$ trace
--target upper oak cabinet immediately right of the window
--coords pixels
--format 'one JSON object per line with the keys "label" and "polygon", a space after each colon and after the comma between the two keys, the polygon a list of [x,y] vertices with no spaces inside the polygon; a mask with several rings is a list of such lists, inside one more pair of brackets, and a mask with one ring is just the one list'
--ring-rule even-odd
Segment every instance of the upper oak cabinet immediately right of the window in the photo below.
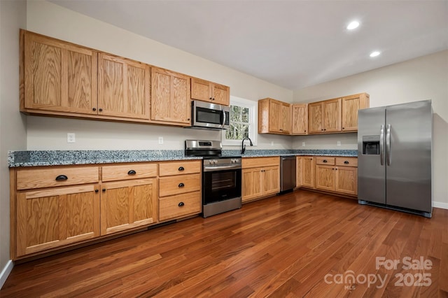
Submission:
{"label": "upper oak cabinet immediately right of the window", "polygon": [[276,99],[258,101],[258,134],[290,134],[291,105]]}

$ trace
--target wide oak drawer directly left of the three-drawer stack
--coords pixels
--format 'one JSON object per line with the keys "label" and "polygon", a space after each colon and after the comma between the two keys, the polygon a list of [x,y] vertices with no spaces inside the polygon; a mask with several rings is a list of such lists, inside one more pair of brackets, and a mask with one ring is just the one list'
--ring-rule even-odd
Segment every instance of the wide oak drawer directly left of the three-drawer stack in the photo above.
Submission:
{"label": "wide oak drawer directly left of the three-drawer stack", "polygon": [[103,166],[102,180],[116,181],[157,176],[157,164],[124,164],[120,166]]}

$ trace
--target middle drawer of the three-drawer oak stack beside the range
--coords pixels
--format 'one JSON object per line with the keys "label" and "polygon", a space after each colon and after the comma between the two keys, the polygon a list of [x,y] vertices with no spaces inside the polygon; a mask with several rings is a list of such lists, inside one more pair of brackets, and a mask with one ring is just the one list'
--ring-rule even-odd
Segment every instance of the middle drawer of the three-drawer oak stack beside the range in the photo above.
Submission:
{"label": "middle drawer of the three-drawer oak stack beside the range", "polygon": [[190,174],[159,178],[159,197],[195,192],[201,189],[201,175]]}

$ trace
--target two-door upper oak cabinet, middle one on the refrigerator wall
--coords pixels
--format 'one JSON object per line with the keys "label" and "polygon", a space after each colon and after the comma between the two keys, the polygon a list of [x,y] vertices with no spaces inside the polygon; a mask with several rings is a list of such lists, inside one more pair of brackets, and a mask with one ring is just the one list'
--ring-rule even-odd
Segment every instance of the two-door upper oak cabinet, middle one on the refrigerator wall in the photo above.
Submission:
{"label": "two-door upper oak cabinet, middle one on the refrigerator wall", "polygon": [[310,134],[341,132],[342,99],[330,99],[308,104]]}

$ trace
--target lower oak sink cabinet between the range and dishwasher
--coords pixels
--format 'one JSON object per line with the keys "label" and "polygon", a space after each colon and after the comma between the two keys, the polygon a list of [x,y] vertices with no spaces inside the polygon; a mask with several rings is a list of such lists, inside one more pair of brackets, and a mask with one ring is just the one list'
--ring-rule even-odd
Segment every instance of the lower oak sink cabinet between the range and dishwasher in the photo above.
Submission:
{"label": "lower oak sink cabinet between the range and dishwasher", "polygon": [[279,157],[244,158],[242,168],[243,203],[280,191]]}

